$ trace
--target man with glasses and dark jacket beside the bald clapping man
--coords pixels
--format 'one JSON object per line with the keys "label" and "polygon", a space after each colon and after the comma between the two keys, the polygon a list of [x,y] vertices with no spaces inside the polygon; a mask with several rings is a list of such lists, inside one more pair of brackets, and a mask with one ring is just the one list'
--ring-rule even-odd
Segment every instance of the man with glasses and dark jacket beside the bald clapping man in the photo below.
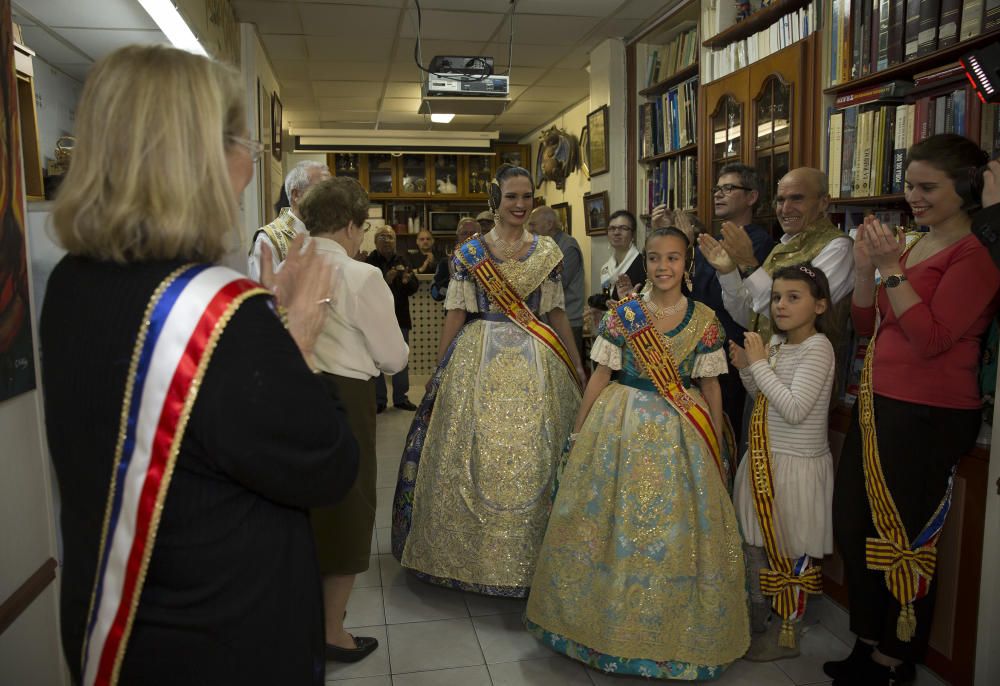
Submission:
{"label": "man with glasses and dark jacket beside the bald clapping man", "polygon": [[[715,217],[724,222],[731,222],[740,227],[742,233],[747,236],[752,245],[754,256],[761,262],[767,259],[768,254],[774,247],[774,240],[770,233],[760,224],[753,221],[753,213],[760,200],[760,177],[757,170],[745,164],[727,164],[719,170],[719,178],[712,188],[713,208]],[[680,213],[678,213],[680,214]],[[670,226],[674,219],[677,228],[685,230],[685,224],[689,222],[678,221],[672,217],[666,205],[660,205],[653,209],[653,228]],[[741,326],[726,311],[722,297],[722,285],[719,283],[715,268],[709,263],[697,247],[697,236],[688,236],[695,243],[694,273],[691,275],[691,297],[698,302],[711,307],[722,328],[726,331],[726,338],[731,341],[742,343],[746,328]],[[743,405],[746,399],[746,389],[740,381],[739,373],[736,369],[730,369],[729,374],[719,377],[719,384],[722,388],[722,405],[726,414],[733,423],[733,433],[738,445],[742,444],[743,431],[740,418],[743,416]]]}

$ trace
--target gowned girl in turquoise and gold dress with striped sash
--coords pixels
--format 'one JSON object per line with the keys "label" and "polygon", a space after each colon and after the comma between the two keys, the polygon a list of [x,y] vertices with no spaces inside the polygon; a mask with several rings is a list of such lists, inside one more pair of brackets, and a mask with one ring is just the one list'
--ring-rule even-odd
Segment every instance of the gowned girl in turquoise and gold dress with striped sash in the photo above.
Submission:
{"label": "gowned girl in turquoise and gold dress with striped sash", "polygon": [[615,674],[720,676],[749,644],[718,375],[725,334],[681,293],[690,244],[646,241],[651,288],[604,317],[525,624]]}

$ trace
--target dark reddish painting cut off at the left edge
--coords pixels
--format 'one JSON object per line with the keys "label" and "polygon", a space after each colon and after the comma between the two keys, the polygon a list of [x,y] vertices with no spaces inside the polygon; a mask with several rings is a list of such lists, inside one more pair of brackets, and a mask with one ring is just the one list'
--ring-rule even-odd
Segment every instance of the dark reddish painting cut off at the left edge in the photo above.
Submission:
{"label": "dark reddish painting cut off at the left edge", "polygon": [[35,387],[35,356],[28,299],[24,170],[17,114],[17,75],[10,0],[0,0],[0,401]]}

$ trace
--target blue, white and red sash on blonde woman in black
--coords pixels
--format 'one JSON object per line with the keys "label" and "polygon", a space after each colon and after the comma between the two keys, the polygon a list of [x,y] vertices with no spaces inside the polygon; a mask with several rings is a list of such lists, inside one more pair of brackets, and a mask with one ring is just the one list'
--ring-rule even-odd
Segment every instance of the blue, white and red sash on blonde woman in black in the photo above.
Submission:
{"label": "blue, white and red sash on blonde woman in black", "polygon": [[129,366],[94,591],[83,683],[115,684],[184,429],[219,336],[250,296],[231,269],[186,265],[153,292]]}

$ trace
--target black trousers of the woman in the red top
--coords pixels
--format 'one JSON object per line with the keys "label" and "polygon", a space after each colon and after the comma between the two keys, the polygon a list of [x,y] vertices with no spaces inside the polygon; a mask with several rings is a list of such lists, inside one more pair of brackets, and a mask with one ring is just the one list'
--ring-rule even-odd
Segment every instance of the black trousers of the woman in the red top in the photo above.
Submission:
{"label": "black trousers of the woman in the red top", "polygon": [[[875,427],[886,484],[912,542],[934,514],[948,485],[948,475],[976,442],[979,410],[954,410],[875,396]],[[865,564],[865,539],[875,537],[865,492],[858,403],[837,467],[833,489],[833,533],[844,558],[851,631],[877,640],[878,649],[899,660],[922,662],[927,652],[937,582],[913,604],[916,635],[896,637],[899,603],[885,584],[883,572]]]}

